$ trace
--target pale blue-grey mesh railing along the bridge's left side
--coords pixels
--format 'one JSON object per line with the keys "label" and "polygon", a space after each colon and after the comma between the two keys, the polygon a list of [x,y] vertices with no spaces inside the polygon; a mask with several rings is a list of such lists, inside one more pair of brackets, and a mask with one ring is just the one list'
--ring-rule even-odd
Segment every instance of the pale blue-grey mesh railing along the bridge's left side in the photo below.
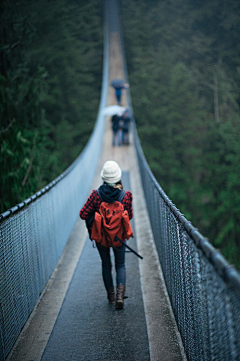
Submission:
{"label": "pale blue-grey mesh railing along the bridge's left side", "polygon": [[1,361],[6,359],[56,267],[90,190],[105,126],[101,110],[107,102],[107,38],[105,26],[99,115],[85,149],[52,183],[0,215]]}

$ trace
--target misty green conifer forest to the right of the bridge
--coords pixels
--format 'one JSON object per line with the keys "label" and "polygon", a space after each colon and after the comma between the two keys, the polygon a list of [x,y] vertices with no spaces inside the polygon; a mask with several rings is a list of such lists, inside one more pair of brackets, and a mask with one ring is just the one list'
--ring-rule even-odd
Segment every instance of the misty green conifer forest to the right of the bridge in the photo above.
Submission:
{"label": "misty green conifer forest to the right of the bridge", "polygon": [[240,2],[121,0],[121,12],[148,164],[240,268]]}

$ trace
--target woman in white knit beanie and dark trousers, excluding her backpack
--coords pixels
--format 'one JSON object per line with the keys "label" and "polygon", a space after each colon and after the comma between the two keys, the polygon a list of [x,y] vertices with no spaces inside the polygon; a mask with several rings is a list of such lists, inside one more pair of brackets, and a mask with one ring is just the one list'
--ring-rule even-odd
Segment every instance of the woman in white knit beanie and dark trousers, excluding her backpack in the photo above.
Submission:
{"label": "woman in white knit beanie and dark trousers, excluding her backpack", "polygon": [[[93,190],[88,197],[86,203],[80,211],[80,217],[86,220],[88,230],[91,238],[93,230],[93,217],[96,218],[95,212],[100,213],[101,204],[115,204],[121,206],[127,211],[128,222],[133,217],[132,209],[132,193],[123,189],[121,181],[122,171],[115,161],[107,161],[101,171],[103,184],[97,189]],[[117,201],[117,202],[116,202]],[[106,202],[106,203],[105,203]],[[101,214],[102,216],[102,214]],[[126,287],[126,267],[125,267],[125,246],[123,244],[113,246],[113,253],[115,257],[116,269],[116,295],[114,292],[113,278],[112,278],[112,263],[110,257],[111,245],[104,240],[105,243],[101,244],[96,242],[99,255],[102,260],[102,276],[104,285],[107,291],[109,303],[115,303],[116,309],[122,309],[124,306],[124,294]]]}

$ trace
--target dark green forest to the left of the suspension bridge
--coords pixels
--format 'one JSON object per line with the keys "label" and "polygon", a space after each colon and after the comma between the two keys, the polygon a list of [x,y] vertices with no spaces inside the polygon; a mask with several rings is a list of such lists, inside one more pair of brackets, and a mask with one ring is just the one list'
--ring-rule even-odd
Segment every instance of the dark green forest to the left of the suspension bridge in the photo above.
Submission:
{"label": "dark green forest to the left of the suspension bridge", "polygon": [[99,107],[103,4],[0,3],[1,213],[80,154]]}

